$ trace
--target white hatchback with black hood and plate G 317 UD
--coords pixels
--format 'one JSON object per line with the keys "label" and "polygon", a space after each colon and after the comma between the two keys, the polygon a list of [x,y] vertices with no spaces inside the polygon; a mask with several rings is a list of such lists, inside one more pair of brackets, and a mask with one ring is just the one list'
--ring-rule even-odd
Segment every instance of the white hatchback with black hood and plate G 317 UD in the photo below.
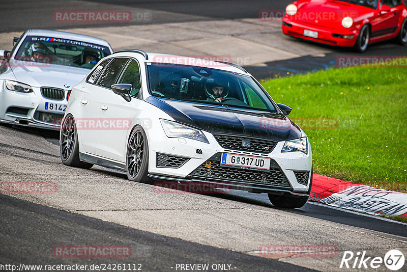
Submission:
{"label": "white hatchback with black hood and plate G 317 UD", "polygon": [[310,193],[312,155],[291,110],[237,65],[120,51],[72,88],[61,159],[150,184],[268,193],[275,206],[298,208]]}

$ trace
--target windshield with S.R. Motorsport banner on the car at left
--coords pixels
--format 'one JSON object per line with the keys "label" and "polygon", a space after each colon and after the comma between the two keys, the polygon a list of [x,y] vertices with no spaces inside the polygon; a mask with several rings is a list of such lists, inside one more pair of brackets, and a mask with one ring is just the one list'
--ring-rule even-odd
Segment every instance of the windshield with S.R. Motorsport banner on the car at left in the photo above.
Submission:
{"label": "windshield with S.R. Motorsport banner on the car at left", "polygon": [[62,38],[27,36],[14,59],[92,69],[110,55],[106,46]]}

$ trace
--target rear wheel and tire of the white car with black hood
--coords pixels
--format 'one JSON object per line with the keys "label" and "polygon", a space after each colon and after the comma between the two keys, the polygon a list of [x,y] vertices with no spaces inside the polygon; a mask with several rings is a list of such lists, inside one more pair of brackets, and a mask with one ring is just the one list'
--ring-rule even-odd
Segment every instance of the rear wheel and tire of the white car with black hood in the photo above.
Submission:
{"label": "rear wheel and tire of the white car with black hood", "polygon": [[79,159],[77,132],[75,119],[72,115],[67,115],[61,126],[60,154],[62,163],[67,166],[90,169],[93,164],[88,164],[88,162]]}

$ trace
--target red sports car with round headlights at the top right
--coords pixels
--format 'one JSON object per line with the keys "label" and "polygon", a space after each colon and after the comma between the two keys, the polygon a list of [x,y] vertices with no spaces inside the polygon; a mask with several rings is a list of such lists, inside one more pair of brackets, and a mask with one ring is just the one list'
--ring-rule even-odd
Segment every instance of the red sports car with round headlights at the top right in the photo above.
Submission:
{"label": "red sports car with round headlights at the top right", "polygon": [[369,43],[387,39],[407,43],[407,7],[401,0],[299,0],[285,9],[282,30],[363,52]]}

